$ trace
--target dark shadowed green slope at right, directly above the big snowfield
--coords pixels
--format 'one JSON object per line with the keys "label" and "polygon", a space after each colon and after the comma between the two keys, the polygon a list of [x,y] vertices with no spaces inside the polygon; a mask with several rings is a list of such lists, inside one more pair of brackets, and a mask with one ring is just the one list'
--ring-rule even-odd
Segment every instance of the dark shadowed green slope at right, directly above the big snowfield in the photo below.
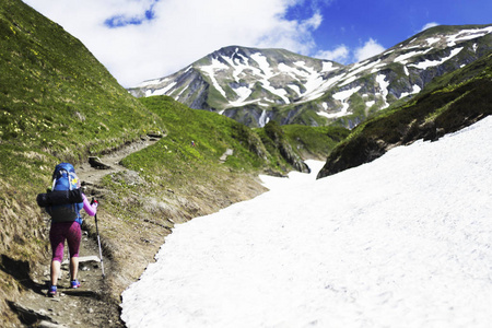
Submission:
{"label": "dark shadowed green slope at right, directly above the big snowfield", "polygon": [[435,79],[413,99],[358,126],[328,156],[318,177],[371,162],[418,139],[436,140],[492,114],[492,54]]}

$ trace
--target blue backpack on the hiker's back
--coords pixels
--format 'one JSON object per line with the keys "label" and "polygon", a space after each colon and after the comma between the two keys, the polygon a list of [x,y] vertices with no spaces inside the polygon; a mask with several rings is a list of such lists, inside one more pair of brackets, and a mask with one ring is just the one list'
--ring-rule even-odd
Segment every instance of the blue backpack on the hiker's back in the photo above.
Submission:
{"label": "blue backpack on the hiker's back", "polygon": [[[60,163],[52,173],[52,191],[75,190],[80,188],[79,178],[73,165],[70,163]],[[47,212],[51,215],[52,222],[71,222],[80,220],[80,210],[83,202],[54,204],[47,207]]]}

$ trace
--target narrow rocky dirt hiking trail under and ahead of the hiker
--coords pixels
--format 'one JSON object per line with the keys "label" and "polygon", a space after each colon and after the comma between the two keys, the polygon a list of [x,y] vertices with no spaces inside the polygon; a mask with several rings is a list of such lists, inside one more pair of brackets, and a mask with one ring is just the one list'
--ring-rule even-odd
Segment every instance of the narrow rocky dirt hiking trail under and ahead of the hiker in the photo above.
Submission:
{"label": "narrow rocky dirt hiking trail under and ahead of the hiker", "polygon": [[[87,162],[75,166],[75,172],[82,181],[84,192],[87,198],[101,195],[104,190],[98,189],[98,181],[107,174],[126,169],[119,165],[119,161],[125,156],[142,150],[153,143],[156,139],[142,139],[132,142],[110,154],[99,159],[91,159],[92,165]],[[102,168],[104,167],[104,168]],[[84,221],[94,220],[81,211]],[[50,220],[46,218],[46,236],[49,235]],[[66,245],[65,263],[62,265],[61,279],[58,280],[58,295],[56,297],[46,296],[50,271],[51,249],[46,251],[44,263],[39,272],[33,272],[30,281],[24,282],[26,291],[17,303],[11,303],[11,308],[17,313],[22,323],[27,327],[125,327],[119,318],[117,304],[108,304],[106,296],[110,288],[106,281],[112,274],[113,263],[110,258],[103,254],[104,270],[106,278],[103,278],[99,262],[98,244],[95,236],[90,237],[82,225],[82,242],[80,248],[79,280],[80,289],[70,289],[70,272],[68,269],[68,249]]]}

